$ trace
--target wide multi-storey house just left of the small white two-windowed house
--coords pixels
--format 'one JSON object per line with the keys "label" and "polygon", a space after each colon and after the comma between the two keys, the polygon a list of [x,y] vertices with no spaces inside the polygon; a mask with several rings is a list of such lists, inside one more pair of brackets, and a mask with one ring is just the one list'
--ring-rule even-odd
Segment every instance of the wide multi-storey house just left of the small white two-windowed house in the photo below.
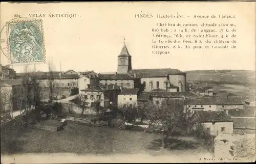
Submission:
{"label": "wide multi-storey house just left of the small white two-windowed house", "polygon": [[117,106],[118,94],[122,87],[117,85],[102,85],[94,86],[81,90],[81,95],[84,95],[88,106],[94,107],[95,103],[99,103],[102,108]]}

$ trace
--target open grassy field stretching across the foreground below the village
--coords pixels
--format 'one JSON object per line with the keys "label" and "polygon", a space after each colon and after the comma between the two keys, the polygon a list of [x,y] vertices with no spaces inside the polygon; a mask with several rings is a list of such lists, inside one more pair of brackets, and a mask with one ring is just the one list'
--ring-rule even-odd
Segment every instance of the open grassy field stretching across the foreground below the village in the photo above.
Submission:
{"label": "open grassy field stretching across the foreground below the village", "polygon": [[[44,124],[52,126],[59,123],[56,120],[47,120]],[[27,129],[16,139],[6,141],[2,145],[1,153],[155,154],[160,148],[158,134],[69,123],[59,132]],[[190,137],[172,138],[166,149],[168,153],[177,155],[207,152],[197,140]]]}

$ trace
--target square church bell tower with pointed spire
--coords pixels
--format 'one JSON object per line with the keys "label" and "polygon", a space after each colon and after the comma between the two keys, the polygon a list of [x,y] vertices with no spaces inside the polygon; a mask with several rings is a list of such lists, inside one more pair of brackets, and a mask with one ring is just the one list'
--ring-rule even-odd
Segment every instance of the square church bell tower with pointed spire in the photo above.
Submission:
{"label": "square church bell tower with pointed spire", "polygon": [[117,57],[117,73],[125,74],[132,70],[132,56],[129,54],[125,45],[125,38],[123,41],[123,48]]}

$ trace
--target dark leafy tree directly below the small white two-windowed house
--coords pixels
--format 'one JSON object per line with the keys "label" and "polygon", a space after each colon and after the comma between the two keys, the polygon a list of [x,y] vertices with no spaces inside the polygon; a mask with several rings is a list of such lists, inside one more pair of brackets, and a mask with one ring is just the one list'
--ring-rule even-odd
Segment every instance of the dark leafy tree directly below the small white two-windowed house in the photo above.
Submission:
{"label": "dark leafy tree directly below the small white two-windowed house", "polygon": [[137,115],[138,115],[138,110],[137,110],[137,104],[136,102],[134,103],[119,103],[118,104],[118,110],[119,113],[121,114],[121,119],[122,119],[122,124],[119,127],[119,129],[123,128],[125,125],[125,121],[128,123],[131,123],[132,121],[136,121]]}

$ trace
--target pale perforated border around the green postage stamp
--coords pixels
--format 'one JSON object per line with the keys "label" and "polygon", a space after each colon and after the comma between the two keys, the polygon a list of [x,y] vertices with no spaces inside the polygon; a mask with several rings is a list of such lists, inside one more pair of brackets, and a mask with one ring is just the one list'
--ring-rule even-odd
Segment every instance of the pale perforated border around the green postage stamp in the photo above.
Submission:
{"label": "pale perforated border around the green postage stamp", "polygon": [[[23,20],[25,19],[25,20]],[[27,19],[27,20],[26,20]],[[43,44],[42,44],[42,50],[44,52],[44,59],[42,62],[30,62],[30,63],[12,63],[11,61],[11,51],[10,51],[10,45],[9,45],[9,28],[8,28],[8,23],[18,23],[18,22],[30,22],[30,21],[40,21],[41,22],[41,33],[42,33],[42,41],[43,41]],[[45,34],[44,34],[44,25],[42,23],[42,19],[30,19],[30,18],[27,18],[27,17],[20,17],[20,18],[17,18],[15,20],[10,20],[10,21],[7,21],[6,22],[6,35],[7,35],[7,47],[8,47],[8,61],[9,61],[9,64],[10,65],[13,65],[13,66],[24,66],[24,65],[38,65],[38,64],[46,64],[46,48],[45,48]]]}

